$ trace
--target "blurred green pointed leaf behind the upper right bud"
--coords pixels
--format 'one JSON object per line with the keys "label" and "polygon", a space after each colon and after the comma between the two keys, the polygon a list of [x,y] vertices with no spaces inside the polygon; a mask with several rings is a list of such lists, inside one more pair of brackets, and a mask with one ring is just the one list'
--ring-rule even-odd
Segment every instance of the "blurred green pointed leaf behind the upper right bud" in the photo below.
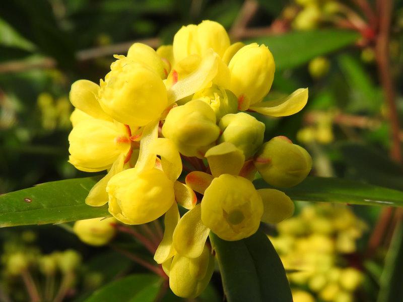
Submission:
{"label": "blurred green pointed leaf behind the upper right bud", "polygon": [[273,53],[278,71],[297,67],[317,56],[351,45],[358,38],[359,34],[353,31],[326,29],[254,38],[246,43],[267,45]]}

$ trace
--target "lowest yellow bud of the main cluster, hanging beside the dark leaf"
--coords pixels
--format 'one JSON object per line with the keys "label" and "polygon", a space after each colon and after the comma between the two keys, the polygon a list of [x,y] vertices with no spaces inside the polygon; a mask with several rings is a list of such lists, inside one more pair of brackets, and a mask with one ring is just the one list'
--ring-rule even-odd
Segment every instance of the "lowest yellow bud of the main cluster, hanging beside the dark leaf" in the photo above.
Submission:
{"label": "lowest yellow bud of the main cluster, hanging beside the dark leaf", "polygon": [[183,298],[195,298],[207,287],[214,271],[214,256],[205,246],[197,258],[176,254],[169,270],[169,287]]}

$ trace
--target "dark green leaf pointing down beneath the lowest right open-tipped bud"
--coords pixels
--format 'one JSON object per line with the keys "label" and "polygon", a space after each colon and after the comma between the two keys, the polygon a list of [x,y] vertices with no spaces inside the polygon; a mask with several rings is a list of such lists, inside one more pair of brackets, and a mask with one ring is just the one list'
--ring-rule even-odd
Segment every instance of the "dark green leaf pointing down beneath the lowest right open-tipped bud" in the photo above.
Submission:
{"label": "dark green leaf pointing down beneath the lowest right open-tipped bud", "polygon": [[262,231],[239,241],[210,233],[229,302],[292,302],[286,271]]}

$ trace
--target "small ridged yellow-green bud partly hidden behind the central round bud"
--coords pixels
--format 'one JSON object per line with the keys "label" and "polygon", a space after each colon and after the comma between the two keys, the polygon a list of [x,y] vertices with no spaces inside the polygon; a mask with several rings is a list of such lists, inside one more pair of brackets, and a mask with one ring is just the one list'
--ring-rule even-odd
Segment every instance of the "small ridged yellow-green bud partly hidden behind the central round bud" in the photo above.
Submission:
{"label": "small ridged yellow-green bud partly hidden behind the central round bud", "polygon": [[217,120],[228,113],[238,111],[236,96],[231,91],[217,85],[196,92],[193,95],[193,100],[201,100],[209,104],[216,113]]}

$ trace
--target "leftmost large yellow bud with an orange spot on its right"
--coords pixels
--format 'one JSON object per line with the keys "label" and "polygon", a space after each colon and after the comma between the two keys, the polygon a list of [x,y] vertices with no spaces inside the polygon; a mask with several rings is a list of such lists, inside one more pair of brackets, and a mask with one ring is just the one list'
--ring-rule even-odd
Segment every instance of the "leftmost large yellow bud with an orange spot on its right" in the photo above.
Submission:
{"label": "leftmost large yellow bud with an orange spot on its right", "polygon": [[69,142],[69,162],[86,172],[109,169],[119,155],[126,155],[130,149],[123,124],[95,118],[79,122],[70,132]]}

